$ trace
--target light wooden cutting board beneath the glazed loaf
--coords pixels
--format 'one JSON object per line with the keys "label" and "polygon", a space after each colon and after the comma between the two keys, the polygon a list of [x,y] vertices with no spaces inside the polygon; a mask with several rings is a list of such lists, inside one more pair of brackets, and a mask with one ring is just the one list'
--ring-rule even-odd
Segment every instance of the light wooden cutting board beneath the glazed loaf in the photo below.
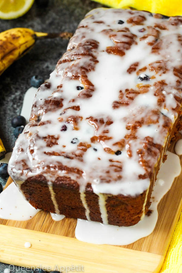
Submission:
{"label": "light wooden cutting board beneath the glazed loaf", "polygon": [[[174,144],[170,151],[174,151]],[[180,160],[182,164],[182,157]],[[11,182],[9,178],[6,186]],[[62,272],[159,272],[182,209],[181,182],[182,174],[160,201],[159,217],[152,234],[127,246],[78,241],[76,219],[55,222],[44,211],[29,221],[0,219],[0,261]],[[31,248],[24,247],[27,241],[32,244]]]}

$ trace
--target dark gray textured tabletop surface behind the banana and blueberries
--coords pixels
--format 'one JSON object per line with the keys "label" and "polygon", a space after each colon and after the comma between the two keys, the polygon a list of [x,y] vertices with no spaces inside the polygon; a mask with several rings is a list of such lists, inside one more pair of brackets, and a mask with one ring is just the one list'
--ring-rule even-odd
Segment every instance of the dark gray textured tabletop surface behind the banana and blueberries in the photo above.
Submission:
{"label": "dark gray textured tabletop surface behind the banana and blueberries", "polygon": [[[47,8],[38,8],[34,3],[30,11],[19,19],[0,19],[0,32],[15,27],[40,32],[75,32],[86,12],[100,6],[89,0],[49,0]],[[58,59],[66,51],[67,43],[59,38],[37,41],[31,51],[0,76],[0,138],[7,152],[12,151],[15,143],[11,119],[20,114],[24,93],[30,87],[30,78],[33,75],[49,78]],[[0,272],[4,269],[0,263]],[[14,268],[11,272],[20,271],[26,272],[20,268]]]}

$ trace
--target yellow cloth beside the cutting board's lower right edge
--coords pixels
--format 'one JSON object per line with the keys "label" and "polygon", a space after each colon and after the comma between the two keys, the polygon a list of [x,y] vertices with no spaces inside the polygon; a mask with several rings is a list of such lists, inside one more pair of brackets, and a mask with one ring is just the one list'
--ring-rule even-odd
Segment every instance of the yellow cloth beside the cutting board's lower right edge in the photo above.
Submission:
{"label": "yellow cloth beside the cutting board's lower right edge", "polygon": [[160,273],[182,273],[182,211]]}

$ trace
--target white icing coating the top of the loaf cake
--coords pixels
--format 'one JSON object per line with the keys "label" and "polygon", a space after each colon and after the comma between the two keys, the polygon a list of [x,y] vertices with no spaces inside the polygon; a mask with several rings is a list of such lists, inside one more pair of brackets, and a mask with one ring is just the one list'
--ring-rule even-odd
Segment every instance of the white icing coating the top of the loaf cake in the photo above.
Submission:
{"label": "white icing coating the top of the loaf cake", "polygon": [[[136,13],[136,15],[143,15],[146,17],[143,25],[146,24],[153,26],[154,24],[160,22],[160,19],[150,17],[146,12],[135,11],[134,13]],[[121,17],[121,14],[122,18],[125,18],[124,25],[118,25],[117,23]],[[157,53],[151,53],[151,46],[149,46],[147,42],[153,39],[153,37],[148,37],[147,40],[140,39],[143,35],[142,33],[138,32],[140,26],[127,23],[127,20],[129,20],[131,17],[131,11],[101,8],[89,12],[89,15],[90,16],[86,17],[80,23],[80,26],[87,25],[87,29],[92,29],[92,31],[86,31],[84,27],[78,28],[76,30],[76,34],[69,42],[68,50],[71,49],[72,52],[74,52],[74,50],[76,51],[80,40],[82,40],[83,43],[87,40],[96,41],[93,42],[95,43],[93,46],[98,46],[98,48],[93,50],[93,55],[97,60],[96,64],[93,65],[92,61],[88,62],[88,59],[85,59],[85,57],[80,60],[81,66],[94,66],[94,69],[91,69],[86,75],[94,86],[92,96],[89,99],[82,99],[81,96],[78,99],[77,97],[78,91],[83,92],[84,90],[77,90],[77,86],[83,85],[82,87],[85,87],[83,83],[80,83],[81,79],[78,80],[77,78],[73,77],[73,70],[76,67],[79,69],[78,60],[76,59],[69,63],[59,62],[56,69],[50,75],[50,84],[47,84],[46,88],[45,84],[43,84],[36,93],[31,114],[32,121],[25,127],[24,130],[24,133],[28,131],[31,132],[32,136],[30,136],[29,133],[26,133],[26,137],[24,133],[19,136],[10,160],[9,172],[15,180],[19,180],[20,173],[23,171],[21,180],[25,180],[32,175],[32,172],[34,175],[42,173],[45,170],[45,166],[50,166],[51,164],[56,166],[56,162],[59,159],[59,162],[63,165],[77,167],[79,170],[83,171],[82,175],[78,175],[73,172],[69,173],[69,177],[71,179],[79,182],[81,191],[84,191],[86,184],[91,181],[93,191],[96,194],[109,193],[135,196],[137,194],[141,194],[144,190],[147,190],[150,185],[149,178],[138,179],[138,176],[140,174],[143,175],[145,170],[141,164],[138,163],[137,150],[142,147],[146,136],[152,137],[154,143],[158,143],[164,147],[167,132],[162,126],[163,119],[165,116],[167,116],[172,123],[174,123],[176,120],[176,112],[174,109],[177,106],[177,101],[174,98],[174,94],[178,96],[181,96],[181,94],[179,90],[176,90],[175,88],[177,78],[175,78],[176,76],[174,76],[171,71],[173,71],[174,66],[178,66],[180,64],[181,59],[181,53],[175,50],[178,47],[177,35],[179,33],[179,28],[171,25],[170,21],[166,21],[165,24],[167,24],[168,31],[166,33],[165,30],[160,30],[159,37],[159,39],[162,39],[163,41],[164,49]],[[102,19],[104,23],[96,24],[94,22],[96,17]],[[128,34],[136,35],[136,37],[132,37],[134,37],[134,41],[137,42],[138,45],[140,44],[140,46],[133,42],[130,50],[126,50],[124,52],[125,55],[122,57],[114,54],[108,54],[106,52],[106,48],[113,46],[114,43],[112,39],[115,39],[110,39],[110,35],[105,34],[104,29],[106,29],[108,25],[110,25],[108,30],[109,32],[110,29],[115,29],[117,31],[127,26],[130,30]],[[117,32],[116,35],[119,35],[118,33],[119,32]],[[116,38],[119,39],[120,42],[122,42],[122,39],[124,39],[122,35]],[[73,45],[75,49],[72,49]],[[67,56],[69,56],[69,51],[64,54],[62,60],[67,58]],[[160,74],[156,73],[155,69],[150,69],[148,64],[156,63],[161,59],[165,61],[167,70],[166,73]],[[150,76],[150,88],[148,89],[147,93],[140,93],[137,95],[135,99],[130,101],[128,106],[113,109],[112,103],[118,100],[119,91],[121,89],[136,89],[136,86],[139,84],[138,75],[136,75],[136,72],[129,74],[126,71],[126,68],[130,67],[133,62],[139,63],[137,69],[147,66],[147,70],[144,73]],[[123,77],[121,78],[120,75],[123,75]],[[165,86],[165,90],[163,91],[163,96],[165,96],[166,103],[165,107],[164,104],[158,106],[158,97],[154,96],[154,93],[157,90],[155,87],[155,82],[162,80],[167,83],[167,86]],[[144,84],[143,82],[144,81],[142,81],[140,84]],[[58,86],[60,87],[58,88]],[[63,106],[55,111],[45,111],[45,101],[48,98],[63,99]],[[67,130],[60,132],[60,128],[65,125],[68,117],[76,114],[74,109],[69,108],[74,104],[73,102],[70,102],[70,98],[75,99],[76,105],[80,108],[78,111],[79,116],[82,116],[83,119],[78,122],[79,130],[73,130],[73,123],[68,123],[66,125]],[[92,107],[90,107],[90,105],[92,105]],[[66,110],[63,111],[64,109]],[[121,155],[116,156],[115,153],[107,153],[104,150],[114,149],[115,152],[113,143],[117,142],[121,138],[123,139],[127,133],[130,133],[130,130],[126,129],[127,121],[124,121],[127,117],[135,116],[136,114],[138,118],[147,116],[147,113],[153,109],[158,109],[161,113],[159,116],[159,122],[152,123],[150,126],[144,124],[138,128],[136,130],[137,138],[126,141],[126,145],[122,149]],[[60,116],[61,113],[63,114]],[[46,122],[47,120],[50,120],[50,123],[41,125],[41,127],[31,126],[31,124],[36,120],[35,116],[38,116],[42,123]],[[104,122],[106,122],[106,118],[113,121],[113,123],[111,123],[109,126],[106,126],[106,129],[108,128],[109,130],[109,136],[112,136],[113,139],[95,142],[94,147],[97,149],[97,152],[93,151],[93,144],[90,143],[90,138],[101,134],[103,127],[101,126],[100,129],[98,128],[98,130],[96,130],[96,128],[93,126],[93,121],[88,120],[90,116],[93,116],[94,118],[102,117]],[[60,120],[60,118],[62,120]],[[128,122],[130,122],[130,120],[128,120]],[[39,139],[37,139],[37,134],[39,135]],[[56,151],[60,151],[61,153],[66,153],[69,155],[74,153],[78,155],[81,149],[78,149],[77,145],[80,143],[89,143],[91,147],[87,148],[86,152],[83,153],[83,161],[77,160],[77,157],[72,160],[62,155],[55,156],[53,155],[55,151],[54,145],[52,147],[47,147],[45,145],[45,141],[41,140],[41,138],[44,138],[50,134],[53,134],[59,138]],[[73,145],[71,143],[73,138],[78,139],[78,144],[76,143]],[[17,153],[20,143],[22,148],[24,148],[23,150],[26,150],[25,147],[28,147],[31,141],[33,141],[34,153],[30,154],[28,152],[27,155],[21,152]],[[65,144],[64,149],[62,148],[62,144]],[[131,147],[132,157],[128,157],[129,146]],[[116,147],[116,150],[118,150],[118,147]],[[44,152],[53,154],[45,155]],[[150,166],[154,166],[158,160],[159,151],[156,150],[156,152],[157,156],[150,158]],[[100,158],[100,160],[98,158]],[[21,170],[19,162],[22,159],[25,159],[29,167],[28,171]],[[41,165],[42,160],[45,161],[45,164]],[[112,167],[110,167],[110,160],[118,160],[121,162],[117,163],[117,168],[121,168],[120,165],[122,164],[122,178],[117,178],[117,173],[115,173]],[[39,168],[37,168],[37,166],[39,166]],[[106,175],[105,171],[107,169],[110,169],[110,174]],[[128,169],[132,169],[132,172],[128,172]],[[65,175],[65,171],[56,171],[58,176]],[[51,173],[51,179],[52,182],[55,179],[53,173]],[[115,180],[119,183],[105,183],[105,180],[107,180],[106,182],[108,182],[108,180]]]}

